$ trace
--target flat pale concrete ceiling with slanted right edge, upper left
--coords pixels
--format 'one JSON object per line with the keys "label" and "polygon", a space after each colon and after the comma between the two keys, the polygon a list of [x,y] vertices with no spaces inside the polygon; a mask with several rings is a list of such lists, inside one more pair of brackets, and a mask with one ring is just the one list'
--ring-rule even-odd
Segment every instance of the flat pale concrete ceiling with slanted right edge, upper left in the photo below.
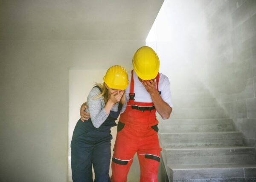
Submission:
{"label": "flat pale concrete ceiling with slanted right edge, upper left", "polygon": [[0,40],[145,40],[163,0],[1,0]]}

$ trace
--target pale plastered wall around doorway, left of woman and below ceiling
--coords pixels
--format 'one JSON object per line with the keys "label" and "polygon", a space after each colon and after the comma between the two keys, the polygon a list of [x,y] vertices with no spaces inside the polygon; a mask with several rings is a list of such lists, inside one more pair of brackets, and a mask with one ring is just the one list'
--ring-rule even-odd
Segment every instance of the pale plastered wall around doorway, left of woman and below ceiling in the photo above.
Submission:
{"label": "pale plastered wall around doorway, left of woman and below ceiling", "polygon": [[1,41],[0,179],[67,181],[69,68],[131,69],[134,52],[144,44]]}

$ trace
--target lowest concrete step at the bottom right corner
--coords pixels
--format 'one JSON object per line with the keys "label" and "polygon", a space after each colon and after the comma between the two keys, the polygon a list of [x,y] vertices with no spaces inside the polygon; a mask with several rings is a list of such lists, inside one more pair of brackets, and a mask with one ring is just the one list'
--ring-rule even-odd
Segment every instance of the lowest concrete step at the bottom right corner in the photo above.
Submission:
{"label": "lowest concrete step at the bottom right corner", "polygon": [[255,182],[256,165],[168,165],[173,182]]}

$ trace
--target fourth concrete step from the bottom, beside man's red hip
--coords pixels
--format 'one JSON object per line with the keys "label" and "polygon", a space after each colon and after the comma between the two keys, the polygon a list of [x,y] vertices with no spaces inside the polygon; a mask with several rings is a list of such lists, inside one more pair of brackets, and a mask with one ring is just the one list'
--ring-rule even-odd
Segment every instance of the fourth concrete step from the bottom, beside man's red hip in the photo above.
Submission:
{"label": "fourth concrete step from the bottom, beside man's red hip", "polygon": [[160,133],[233,131],[232,119],[169,119],[159,121]]}

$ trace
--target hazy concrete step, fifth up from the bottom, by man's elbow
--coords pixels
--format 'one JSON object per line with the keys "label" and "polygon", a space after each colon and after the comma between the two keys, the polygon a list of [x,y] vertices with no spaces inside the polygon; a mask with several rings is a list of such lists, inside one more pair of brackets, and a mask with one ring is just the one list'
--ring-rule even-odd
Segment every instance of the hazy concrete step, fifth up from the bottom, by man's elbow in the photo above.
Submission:
{"label": "hazy concrete step, fifth up from the bottom, by man's elbow", "polygon": [[200,108],[174,108],[171,114],[172,119],[212,119],[228,118],[227,113],[221,107],[200,107]]}

